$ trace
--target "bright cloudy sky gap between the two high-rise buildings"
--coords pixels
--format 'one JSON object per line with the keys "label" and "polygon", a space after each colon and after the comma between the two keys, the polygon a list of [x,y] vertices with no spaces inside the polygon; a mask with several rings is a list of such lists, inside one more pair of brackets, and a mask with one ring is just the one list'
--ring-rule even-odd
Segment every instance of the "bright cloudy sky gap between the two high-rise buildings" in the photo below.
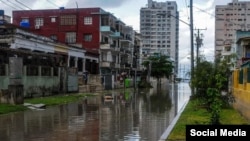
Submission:
{"label": "bright cloudy sky gap between the two high-rise buildings", "polygon": [[[214,5],[214,0],[209,0],[206,2],[199,1],[193,4],[194,59],[196,58],[196,37],[198,37],[198,33],[199,37],[203,39],[203,44],[201,48],[199,48],[200,55],[204,55],[208,61],[213,61],[214,59]],[[180,17],[187,17],[187,11],[190,12],[189,7],[183,7],[180,9]],[[188,18],[184,19],[186,20]],[[190,21],[187,22],[190,23]],[[185,24],[180,24],[179,61],[182,64],[190,64],[191,62],[189,59],[187,59],[187,56],[190,58],[191,54],[190,39],[190,27]]]}

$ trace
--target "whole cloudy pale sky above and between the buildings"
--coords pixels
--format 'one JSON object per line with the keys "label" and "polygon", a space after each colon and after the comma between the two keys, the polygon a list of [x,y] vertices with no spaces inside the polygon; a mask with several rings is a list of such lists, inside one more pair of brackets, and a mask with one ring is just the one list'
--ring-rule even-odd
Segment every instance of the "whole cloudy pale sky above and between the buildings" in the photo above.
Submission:
{"label": "whole cloudy pale sky above and between the buildings", "polygon": [[[153,1],[166,2],[166,0]],[[140,9],[146,7],[147,2],[148,0],[0,0],[0,9],[5,10],[5,15],[12,16],[13,10],[101,7],[140,32]],[[194,39],[199,29],[203,39],[203,45],[199,49],[200,54],[208,61],[214,59],[215,6],[227,5],[229,2],[232,0],[193,0]],[[179,62],[180,65],[189,67],[191,43],[190,27],[187,24],[190,23],[190,0],[176,0],[176,3],[180,15]],[[196,47],[194,51],[196,52]]]}

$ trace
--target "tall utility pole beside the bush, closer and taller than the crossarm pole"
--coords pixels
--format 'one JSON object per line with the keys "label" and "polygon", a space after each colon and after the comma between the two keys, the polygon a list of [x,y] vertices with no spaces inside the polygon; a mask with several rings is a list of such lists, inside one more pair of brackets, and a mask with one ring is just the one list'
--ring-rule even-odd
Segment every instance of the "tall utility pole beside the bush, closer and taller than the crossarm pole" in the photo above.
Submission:
{"label": "tall utility pole beside the bush, closer and taller than the crossarm pole", "polygon": [[[190,42],[191,42],[191,80],[194,76],[194,30],[193,30],[193,0],[190,0]],[[191,95],[194,95],[194,88],[191,86]]]}

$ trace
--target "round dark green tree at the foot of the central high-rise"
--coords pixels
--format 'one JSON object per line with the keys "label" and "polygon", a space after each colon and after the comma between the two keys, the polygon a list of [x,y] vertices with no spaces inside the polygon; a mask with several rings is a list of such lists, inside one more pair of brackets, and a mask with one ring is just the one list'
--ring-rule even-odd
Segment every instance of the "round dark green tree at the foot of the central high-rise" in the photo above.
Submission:
{"label": "round dark green tree at the foot of the central high-rise", "polygon": [[161,81],[162,77],[169,79],[174,68],[169,56],[166,55],[150,56],[142,65],[147,68],[147,74],[157,79],[157,83]]}

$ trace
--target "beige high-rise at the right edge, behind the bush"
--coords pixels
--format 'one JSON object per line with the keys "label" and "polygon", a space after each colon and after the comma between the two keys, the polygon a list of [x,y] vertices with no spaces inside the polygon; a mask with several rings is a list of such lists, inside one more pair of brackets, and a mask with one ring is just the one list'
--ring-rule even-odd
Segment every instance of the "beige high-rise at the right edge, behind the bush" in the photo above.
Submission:
{"label": "beige high-rise at the right edge, behind the bush", "polygon": [[232,0],[215,7],[215,57],[224,56],[236,43],[236,31],[250,30],[250,2]]}

